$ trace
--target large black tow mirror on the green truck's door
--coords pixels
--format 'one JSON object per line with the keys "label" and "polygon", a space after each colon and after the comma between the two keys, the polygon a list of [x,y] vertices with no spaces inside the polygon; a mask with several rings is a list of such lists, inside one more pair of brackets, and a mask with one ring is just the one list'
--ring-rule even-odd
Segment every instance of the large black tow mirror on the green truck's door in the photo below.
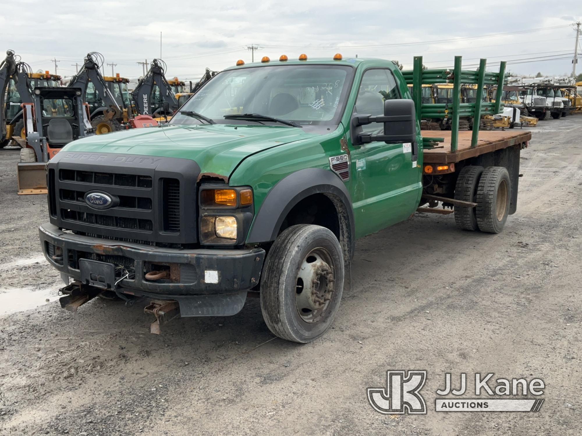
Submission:
{"label": "large black tow mirror on the green truck's door", "polygon": [[[383,123],[383,134],[361,133],[360,126],[371,123]],[[352,144],[361,145],[368,142],[384,141],[386,144],[416,142],[416,110],[414,101],[395,99],[384,101],[384,115],[371,116],[354,113],[352,117]]]}

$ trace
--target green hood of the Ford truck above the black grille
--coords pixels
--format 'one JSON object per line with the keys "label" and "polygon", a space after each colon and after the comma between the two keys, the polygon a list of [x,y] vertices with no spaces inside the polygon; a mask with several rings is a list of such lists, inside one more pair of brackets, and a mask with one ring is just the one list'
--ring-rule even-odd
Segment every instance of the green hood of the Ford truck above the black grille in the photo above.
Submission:
{"label": "green hood of the Ford truck above the black grille", "polygon": [[202,173],[230,177],[247,156],[314,137],[303,129],[246,124],[195,124],[134,128],[70,142],[63,151],[120,153],[195,160]]}

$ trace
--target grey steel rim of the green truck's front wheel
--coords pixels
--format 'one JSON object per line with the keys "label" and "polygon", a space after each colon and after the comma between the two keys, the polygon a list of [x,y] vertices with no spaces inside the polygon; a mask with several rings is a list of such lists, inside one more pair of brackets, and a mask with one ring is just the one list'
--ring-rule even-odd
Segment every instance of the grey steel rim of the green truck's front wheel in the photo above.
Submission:
{"label": "grey steel rim of the green truck's front wheel", "polygon": [[301,262],[297,273],[295,306],[301,320],[313,324],[328,312],[335,278],[333,259],[322,247],[311,250]]}

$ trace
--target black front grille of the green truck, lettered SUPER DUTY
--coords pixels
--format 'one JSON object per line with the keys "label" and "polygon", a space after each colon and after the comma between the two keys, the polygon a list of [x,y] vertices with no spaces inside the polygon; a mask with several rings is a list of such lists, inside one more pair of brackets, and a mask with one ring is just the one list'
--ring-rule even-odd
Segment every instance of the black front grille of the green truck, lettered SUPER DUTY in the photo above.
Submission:
{"label": "black front grille of the green truck, lettered SUPER DUTY", "polygon": [[[197,241],[197,177],[190,159],[118,153],[58,153],[48,163],[51,223],[77,234],[155,246]],[[51,173],[52,171],[52,173]],[[111,198],[99,209],[95,192]],[[54,212],[54,214],[53,214]]]}

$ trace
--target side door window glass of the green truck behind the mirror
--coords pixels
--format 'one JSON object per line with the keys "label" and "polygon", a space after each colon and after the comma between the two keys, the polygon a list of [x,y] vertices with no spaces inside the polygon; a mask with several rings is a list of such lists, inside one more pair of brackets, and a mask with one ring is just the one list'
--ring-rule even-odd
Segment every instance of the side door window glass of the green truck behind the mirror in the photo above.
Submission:
{"label": "side door window glass of the green truck behind the mirror", "polygon": [[[396,80],[390,70],[375,69],[364,73],[356,99],[356,113],[362,115],[384,115],[384,101],[400,98]],[[378,133],[384,128],[382,123],[362,126],[363,133]]]}

